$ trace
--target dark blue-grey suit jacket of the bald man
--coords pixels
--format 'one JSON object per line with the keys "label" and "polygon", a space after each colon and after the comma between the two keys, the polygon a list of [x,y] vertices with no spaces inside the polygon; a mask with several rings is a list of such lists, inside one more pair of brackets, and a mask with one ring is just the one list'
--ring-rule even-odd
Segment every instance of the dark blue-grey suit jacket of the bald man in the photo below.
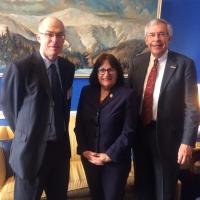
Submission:
{"label": "dark blue-grey suit jacket of the bald man", "polygon": [[[64,119],[68,129],[70,88],[74,65],[58,58],[59,77],[63,91]],[[44,61],[39,52],[11,64],[2,88],[3,113],[15,133],[11,147],[10,164],[21,178],[34,178],[41,166],[47,137],[48,120],[53,100]],[[70,156],[68,130],[66,155]]]}

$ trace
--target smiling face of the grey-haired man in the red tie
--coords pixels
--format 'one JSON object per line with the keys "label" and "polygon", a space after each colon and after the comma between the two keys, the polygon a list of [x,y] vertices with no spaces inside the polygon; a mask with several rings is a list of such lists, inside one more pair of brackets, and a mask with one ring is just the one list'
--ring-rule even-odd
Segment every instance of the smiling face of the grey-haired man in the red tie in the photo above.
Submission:
{"label": "smiling face of the grey-haired man in the red tie", "polygon": [[154,57],[159,58],[166,52],[170,40],[166,24],[158,23],[148,27],[145,42]]}

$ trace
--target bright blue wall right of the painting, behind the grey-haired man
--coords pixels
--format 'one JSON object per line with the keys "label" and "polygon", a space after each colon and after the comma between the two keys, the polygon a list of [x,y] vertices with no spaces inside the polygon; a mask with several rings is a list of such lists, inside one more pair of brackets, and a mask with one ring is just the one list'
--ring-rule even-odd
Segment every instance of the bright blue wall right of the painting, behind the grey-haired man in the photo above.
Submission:
{"label": "bright blue wall right of the painting, behind the grey-haired man", "polygon": [[174,28],[170,49],[194,59],[200,83],[200,0],[163,0],[161,18]]}

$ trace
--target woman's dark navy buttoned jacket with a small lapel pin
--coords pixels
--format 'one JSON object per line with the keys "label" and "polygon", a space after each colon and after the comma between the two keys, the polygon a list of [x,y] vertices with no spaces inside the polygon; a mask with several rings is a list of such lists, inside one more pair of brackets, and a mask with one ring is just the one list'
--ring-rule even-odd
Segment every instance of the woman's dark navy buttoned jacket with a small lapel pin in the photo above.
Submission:
{"label": "woman's dark navy buttoned jacket with a small lapel pin", "polygon": [[100,89],[82,89],[75,133],[78,153],[85,150],[107,153],[112,161],[130,160],[136,129],[136,103],[133,91],[116,87],[99,103]]}

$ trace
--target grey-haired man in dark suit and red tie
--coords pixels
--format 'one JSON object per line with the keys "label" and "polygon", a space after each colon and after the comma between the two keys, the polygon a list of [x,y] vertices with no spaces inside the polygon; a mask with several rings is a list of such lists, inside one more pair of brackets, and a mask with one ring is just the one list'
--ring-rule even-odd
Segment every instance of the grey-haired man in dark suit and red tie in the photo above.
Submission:
{"label": "grey-haired man in dark suit and red tie", "polygon": [[140,104],[133,145],[139,199],[174,200],[179,165],[191,158],[197,134],[195,64],[168,50],[171,38],[167,21],[150,21],[145,27],[150,52],[132,60],[128,75]]}

